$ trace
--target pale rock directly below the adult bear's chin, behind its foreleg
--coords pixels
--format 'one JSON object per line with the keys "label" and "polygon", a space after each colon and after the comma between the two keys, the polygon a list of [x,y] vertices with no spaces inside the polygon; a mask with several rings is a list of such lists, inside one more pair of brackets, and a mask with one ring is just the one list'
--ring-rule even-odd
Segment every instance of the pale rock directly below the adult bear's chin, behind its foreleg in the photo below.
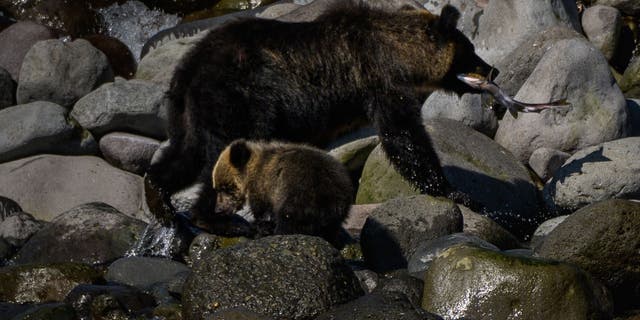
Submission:
{"label": "pale rock directly below the adult bear's chin, behind its foreleg", "polygon": [[443,92],[432,93],[422,106],[422,119],[447,118],[493,137],[498,130],[498,118],[493,110],[483,106],[479,94],[465,94],[462,97]]}

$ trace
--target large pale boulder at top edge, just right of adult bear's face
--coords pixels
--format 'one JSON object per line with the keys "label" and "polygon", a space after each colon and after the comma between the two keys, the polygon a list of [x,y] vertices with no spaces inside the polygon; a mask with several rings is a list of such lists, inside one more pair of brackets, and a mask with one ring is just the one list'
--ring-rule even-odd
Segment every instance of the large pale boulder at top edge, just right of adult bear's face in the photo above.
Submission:
{"label": "large pale boulder at top edge, just right of adult bear's face", "polygon": [[575,1],[489,1],[473,43],[478,55],[495,64],[529,35],[555,26],[582,31]]}

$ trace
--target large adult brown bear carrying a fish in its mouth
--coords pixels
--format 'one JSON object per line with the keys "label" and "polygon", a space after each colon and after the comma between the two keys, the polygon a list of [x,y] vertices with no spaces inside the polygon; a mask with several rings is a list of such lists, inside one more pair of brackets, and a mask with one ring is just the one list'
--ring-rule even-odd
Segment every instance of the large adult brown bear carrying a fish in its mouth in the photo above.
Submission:
{"label": "large adult brown bear carrying a fish in its mouth", "polygon": [[451,6],[436,16],[349,2],[312,22],[246,19],[210,31],[173,76],[169,143],[146,179],[150,209],[170,215],[170,195],[199,181],[192,214],[215,223],[211,170],[232,140],[322,147],[367,122],[423,193],[470,204],[445,179],[420,116],[433,90],[477,92],[457,74],[490,71],[456,29],[459,16]]}

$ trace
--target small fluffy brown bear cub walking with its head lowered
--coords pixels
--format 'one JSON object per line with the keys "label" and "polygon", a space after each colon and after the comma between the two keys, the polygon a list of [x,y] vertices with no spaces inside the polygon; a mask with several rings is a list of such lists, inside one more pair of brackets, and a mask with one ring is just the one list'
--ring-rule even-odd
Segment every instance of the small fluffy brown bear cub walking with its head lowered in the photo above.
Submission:
{"label": "small fluffy brown bear cub walking with its head lowered", "polygon": [[354,190],[346,168],[324,151],[239,139],[222,151],[212,178],[216,214],[248,205],[256,236],[307,234],[340,247]]}

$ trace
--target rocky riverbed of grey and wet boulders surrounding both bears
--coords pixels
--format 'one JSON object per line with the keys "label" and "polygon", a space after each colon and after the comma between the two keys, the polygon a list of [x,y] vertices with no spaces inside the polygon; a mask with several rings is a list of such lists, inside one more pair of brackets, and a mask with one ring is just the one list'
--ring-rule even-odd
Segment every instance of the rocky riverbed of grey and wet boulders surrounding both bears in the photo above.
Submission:
{"label": "rocky riverbed of grey and wet boulders surrounding both bears", "polygon": [[[570,106],[515,118],[483,95],[424,102],[445,175],[483,215],[420,195],[371,130],[336,141],[358,182],[342,251],[192,239],[146,209],[163,96],[198,31],[307,21],[331,1],[206,2],[0,0],[0,319],[640,318],[637,1],[448,1],[503,89]],[[231,7],[249,10],[202,13]]]}

